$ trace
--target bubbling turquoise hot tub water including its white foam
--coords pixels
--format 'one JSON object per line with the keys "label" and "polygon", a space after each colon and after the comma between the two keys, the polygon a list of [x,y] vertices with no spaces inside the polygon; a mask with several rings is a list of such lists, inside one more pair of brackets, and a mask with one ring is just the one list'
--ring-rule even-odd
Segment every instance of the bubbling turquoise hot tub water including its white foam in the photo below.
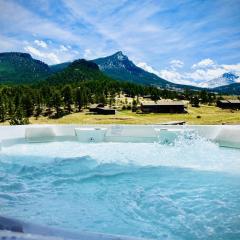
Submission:
{"label": "bubbling turquoise hot tub water including its white foam", "polygon": [[240,151],[203,139],[6,147],[0,215],[150,239],[240,239]]}

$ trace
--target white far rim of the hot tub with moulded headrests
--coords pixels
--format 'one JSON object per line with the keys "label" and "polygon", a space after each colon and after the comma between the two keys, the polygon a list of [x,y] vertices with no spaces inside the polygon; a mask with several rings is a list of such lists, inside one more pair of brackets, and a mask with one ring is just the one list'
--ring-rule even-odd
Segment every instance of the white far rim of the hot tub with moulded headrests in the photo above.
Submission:
{"label": "white far rim of the hot tub with moulded headrests", "polygon": [[173,143],[192,133],[220,146],[240,148],[240,125],[23,125],[0,126],[2,146],[21,142],[160,142]]}

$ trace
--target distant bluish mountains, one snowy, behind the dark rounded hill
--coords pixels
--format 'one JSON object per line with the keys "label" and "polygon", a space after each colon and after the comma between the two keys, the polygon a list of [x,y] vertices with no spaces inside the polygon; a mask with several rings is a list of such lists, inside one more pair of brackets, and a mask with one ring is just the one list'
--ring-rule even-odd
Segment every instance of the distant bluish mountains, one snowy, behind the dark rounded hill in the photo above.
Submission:
{"label": "distant bluish mountains, one snowy, behind the dark rounded hill", "polygon": [[[211,91],[222,92],[225,89],[228,93],[238,93],[238,91],[240,93],[240,87],[238,87],[238,85],[240,86],[240,83],[238,83],[239,77],[233,73],[224,73],[219,78],[202,84],[202,88],[200,88],[172,83],[153,73],[147,72],[137,67],[121,51],[111,56],[86,62],[97,64],[105,75],[119,81],[128,81],[173,90],[182,90],[186,88],[201,90],[202,88],[209,88]],[[71,62],[65,62],[49,66],[39,60],[33,59],[28,53],[0,53],[0,83],[35,83],[46,79],[54,73],[65,70],[70,65]],[[226,87],[226,85],[228,87]]]}

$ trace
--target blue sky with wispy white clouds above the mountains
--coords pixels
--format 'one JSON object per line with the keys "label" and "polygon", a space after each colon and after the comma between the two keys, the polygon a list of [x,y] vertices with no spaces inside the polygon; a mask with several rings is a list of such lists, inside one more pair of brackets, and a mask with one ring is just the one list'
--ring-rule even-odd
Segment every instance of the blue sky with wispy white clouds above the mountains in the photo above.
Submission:
{"label": "blue sky with wispy white clouds above the mountains", "polygon": [[240,0],[0,0],[0,52],[49,64],[123,51],[168,80],[240,74]]}

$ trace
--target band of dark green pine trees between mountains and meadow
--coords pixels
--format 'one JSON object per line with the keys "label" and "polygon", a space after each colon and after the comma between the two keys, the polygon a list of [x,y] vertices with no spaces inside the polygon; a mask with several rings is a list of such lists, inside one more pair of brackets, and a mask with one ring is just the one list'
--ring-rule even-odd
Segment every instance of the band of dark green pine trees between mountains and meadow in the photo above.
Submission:
{"label": "band of dark green pine trees between mountains and meadow", "polygon": [[28,124],[30,117],[60,118],[80,112],[92,103],[114,105],[116,96],[126,94],[137,98],[150,95],[153,101],[160,98],[187,99],[211,103],[216,96],[206,91],[184,93],[137,85],[115,80],[88,80],[71,84],[0,85],[0,121],[12,125]]}

